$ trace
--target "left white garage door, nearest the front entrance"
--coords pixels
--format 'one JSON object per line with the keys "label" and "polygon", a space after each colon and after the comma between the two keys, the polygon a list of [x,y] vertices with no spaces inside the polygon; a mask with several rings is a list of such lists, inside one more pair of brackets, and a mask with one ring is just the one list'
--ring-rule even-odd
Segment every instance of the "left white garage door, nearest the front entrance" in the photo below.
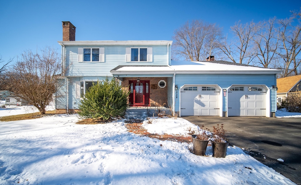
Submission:
{"label": "left white garage door, nearest the front entrance", "polygon": [[181,116],[219,116],[220,90],[214,85],[185,85],[180,92]]}

